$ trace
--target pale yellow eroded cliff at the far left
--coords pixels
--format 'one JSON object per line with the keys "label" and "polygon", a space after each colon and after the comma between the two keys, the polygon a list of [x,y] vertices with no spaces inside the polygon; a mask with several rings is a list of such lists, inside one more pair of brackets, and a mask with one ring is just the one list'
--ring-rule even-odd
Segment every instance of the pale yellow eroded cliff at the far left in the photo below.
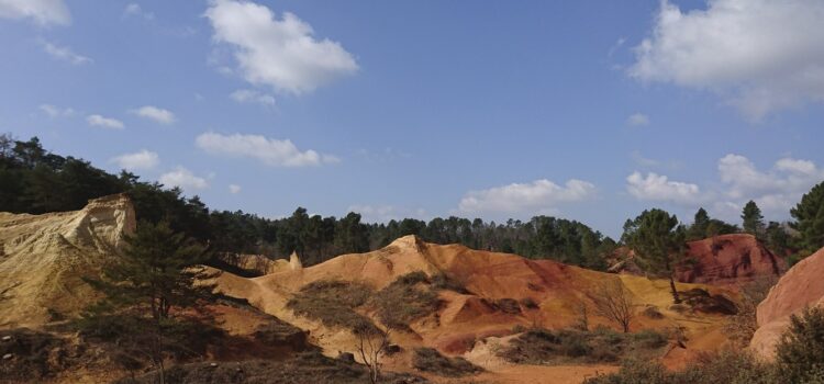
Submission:
{"label": "pale yellow eroded cliff at the far left", "polygon": [[73,315],[96,298],[81,276],[93,275],[135,229],[123,194],[89,201],[80,211],[0,213],[0,326],[36,326]]}

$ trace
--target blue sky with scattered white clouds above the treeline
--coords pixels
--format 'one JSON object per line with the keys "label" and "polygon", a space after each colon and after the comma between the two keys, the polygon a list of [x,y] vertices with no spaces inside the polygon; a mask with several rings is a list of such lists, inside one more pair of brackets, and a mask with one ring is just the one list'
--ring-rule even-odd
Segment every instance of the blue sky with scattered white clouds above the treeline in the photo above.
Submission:
{"label": "blue sky with scattered white clouds above the treeline", "polygon": [[0,0],[0,132],[213,208],[768,219],[824,180],[817,0]]}

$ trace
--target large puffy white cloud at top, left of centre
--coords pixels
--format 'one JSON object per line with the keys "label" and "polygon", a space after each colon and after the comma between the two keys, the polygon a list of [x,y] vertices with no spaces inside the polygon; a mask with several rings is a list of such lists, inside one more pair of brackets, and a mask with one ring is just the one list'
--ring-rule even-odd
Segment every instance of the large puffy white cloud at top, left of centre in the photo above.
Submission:
{"label": "large puffy white cloud at top, left of centre", "polygon": [[212,38],[234,48],[237,70],[250,83],[299,94],[358,69],[341,44],[316,39],[312,26],[292,13],[278,20],[250,1],[212,0],[205,16],[214,29]]}

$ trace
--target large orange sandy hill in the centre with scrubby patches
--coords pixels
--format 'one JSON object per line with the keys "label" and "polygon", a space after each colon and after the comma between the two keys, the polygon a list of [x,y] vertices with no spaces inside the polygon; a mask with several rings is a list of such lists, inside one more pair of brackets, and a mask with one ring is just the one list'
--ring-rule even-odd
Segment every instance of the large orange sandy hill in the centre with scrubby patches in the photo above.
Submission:
{"label": "large orange sandy hill in the centre with scrubby patches", "polygon": [[[264,312],[309,330],[313,342],[334,355],[338,351],[353,351],[354,336],[348,330],[325,327],[320,321],[296,315],[286,306],[289,298],[311,282],[356,281],[380,290],[399,276],[415,271],[430,276],[445,273],[463,284],[469,293],[441,291],[443,303],[436,314],[413,321],[411,332],[394,334],[392,341],[403,347],[434,347],[456,354],[480,346],[475,340],[511,335],[516,325],[537,325],[550,329],[568,327],[578,318],[580,303],[589,302],[588,292],[610,279],[621,280],[639,306],[653,306],[664,314],[661,319],[637,316],[633,329],[680,326],[688,336],[695,336],[692,339],[697,341],[701,340],[699,336],[712,335],[717,340],[708,343],[710,347],[724,340],[716,332],[722,317],[670,309],[667,281],[595,272],[553,260],[527,260],[516,255],[472,250],[459,245],[426,244],[414,236],[400,238],[377,251],[343,255],[318,266],[280,270],[259,278],[245,279],[223,273],[218,278],[218,290],[230,296],[246,298]],[[679,291],[702,287],[713,294],[725,292],[721,287],[697,284],[678,286]],[[531,298],[538,304],[538,308],[527,309],[521,304],[515,310],[502,310],[493,303],[503,298],[516,302]],[[369,313],[364,315],[372,316]],[[604,324],[602,319],[592,317],[593,325]],[[468,353],[467,358],[471,360],[471,355]]]}

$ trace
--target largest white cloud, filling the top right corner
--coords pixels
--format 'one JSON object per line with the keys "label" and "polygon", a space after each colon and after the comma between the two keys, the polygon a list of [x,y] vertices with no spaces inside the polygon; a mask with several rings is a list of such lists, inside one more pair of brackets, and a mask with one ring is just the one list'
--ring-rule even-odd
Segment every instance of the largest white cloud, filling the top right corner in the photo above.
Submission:
{"label": "largest white cloud, filling the top right corner", "polygon": [[708,0],[681,12],[661,1],[630,76],[710,90],[753,121],[824,101],[824,2]]}

